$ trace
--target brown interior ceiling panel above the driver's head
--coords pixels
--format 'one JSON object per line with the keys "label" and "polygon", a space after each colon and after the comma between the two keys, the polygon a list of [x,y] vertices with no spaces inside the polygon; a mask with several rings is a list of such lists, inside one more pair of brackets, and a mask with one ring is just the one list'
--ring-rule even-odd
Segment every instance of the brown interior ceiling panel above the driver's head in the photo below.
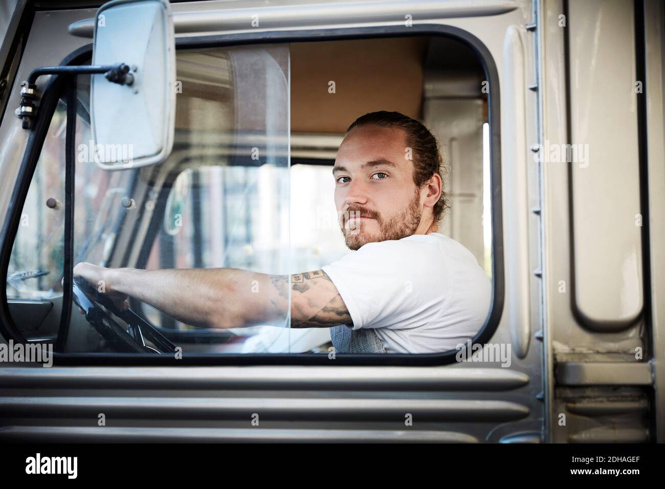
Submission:
{"label": "brown interior ceiling panel above the driver's head", "polygon": [[291,132],[344,134],[356,118],[375,110],[420,118],[427,42],[400,37],[292,43]]}

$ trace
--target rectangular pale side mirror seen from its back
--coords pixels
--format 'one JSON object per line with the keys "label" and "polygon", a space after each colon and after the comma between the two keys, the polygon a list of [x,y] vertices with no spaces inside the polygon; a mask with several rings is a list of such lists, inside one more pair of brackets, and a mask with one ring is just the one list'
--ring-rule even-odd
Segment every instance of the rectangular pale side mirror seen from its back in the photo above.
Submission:
{"label": "rectangular pale side mirror seen from its back", "polygon": [[160,163],[173,148],[176,43],[168,0],[113,0],[97,11],[90,131],[105,170]]}

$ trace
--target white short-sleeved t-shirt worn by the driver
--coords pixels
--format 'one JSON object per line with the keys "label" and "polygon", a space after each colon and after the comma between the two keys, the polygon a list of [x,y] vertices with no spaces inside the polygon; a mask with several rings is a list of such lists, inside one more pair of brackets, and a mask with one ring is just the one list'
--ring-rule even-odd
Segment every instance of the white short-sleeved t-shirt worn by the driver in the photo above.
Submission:
{"label": "white short-sleeved t-shirt worn by the driver", "polygon": [[325,265],[353,320],[386,353],[441,353],[479,331],[492,286],[473,253],[439,233],[368,243]]}

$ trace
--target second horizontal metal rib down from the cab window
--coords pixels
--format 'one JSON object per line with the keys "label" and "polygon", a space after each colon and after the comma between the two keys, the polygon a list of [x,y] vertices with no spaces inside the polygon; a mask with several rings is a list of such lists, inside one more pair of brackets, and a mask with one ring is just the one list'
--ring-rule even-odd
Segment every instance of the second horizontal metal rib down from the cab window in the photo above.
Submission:
{"label": "second horizontal metal rib down from the cab window", "polygon": [[529,416],[529,408],[506,401],[423,399],[276,399],[190,397],[0,397],[0,417],[95,418],[98,412],[114,418],[233,420],[420,420],[499,421]]}

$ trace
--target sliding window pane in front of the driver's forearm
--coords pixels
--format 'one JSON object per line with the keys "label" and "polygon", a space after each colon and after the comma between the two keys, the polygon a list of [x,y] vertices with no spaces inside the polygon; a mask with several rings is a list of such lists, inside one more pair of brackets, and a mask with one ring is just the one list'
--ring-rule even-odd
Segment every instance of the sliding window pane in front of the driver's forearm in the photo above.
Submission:
{"label": "sliding window pane in front of the driver's forearm", "polygon": [[[108,172],[80,146],[76,261],[288,274],[288,62],[281,45],[179,51],[166,162]],[[194,327],[136,299],[130,307],[188,353],[235,353],[261,332]],[[98,349],[74,338],[81,330],[70,327],[68,350]]]}

